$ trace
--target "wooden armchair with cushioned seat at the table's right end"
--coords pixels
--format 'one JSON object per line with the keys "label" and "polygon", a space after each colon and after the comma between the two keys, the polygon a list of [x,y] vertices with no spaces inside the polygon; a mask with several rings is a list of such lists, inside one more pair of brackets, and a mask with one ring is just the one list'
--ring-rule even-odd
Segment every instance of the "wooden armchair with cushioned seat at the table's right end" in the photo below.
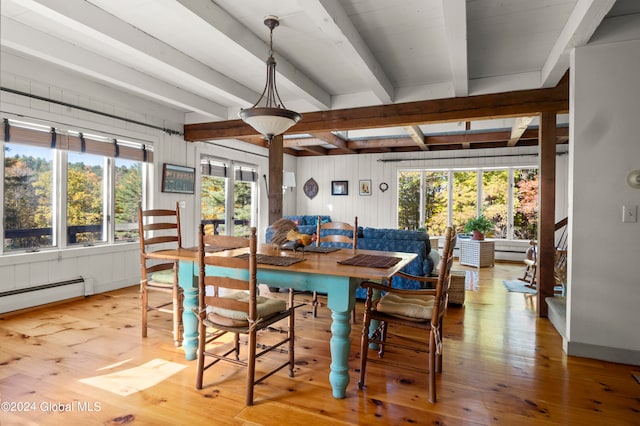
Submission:
{"label": "wooden armchair with cushioned seat at the table's right end", "polygon": [[[362,324],[362,340],[360,347],[360,379],[358,388],[365,386],[367,362],[385,363],[392,367],[405,368],[428,374],[429,402],[436,402],[436,372],[442,371],[442,320],[447,308],[447,292],[451,278],[453,264],[453,248],[456,245],[456,234],[449,227],[445,232],[445,242],[438,277],[418,277],[398,272],[404,278],[418,281],[421,289],[404,290],[364,282],[367,289],[364,320]],[[435,288],[429,288],[435,286]],[[381,298],[377,291],[385,292]],[[378,321],[375,331],[370,332],[372,321]],[[407,336],[407,333],[394,335],[393,331],[402,328],[417,331],[417,338]],[[413,335],[412,335],[413,336]],[[378,348],[377,357],[372,356],[370,349]],[[416,362],[414,357],[398,357],[393,354],[392,359],[385,359],[387,347],[411,351],[411,353],[426,353],[427,362]]]}

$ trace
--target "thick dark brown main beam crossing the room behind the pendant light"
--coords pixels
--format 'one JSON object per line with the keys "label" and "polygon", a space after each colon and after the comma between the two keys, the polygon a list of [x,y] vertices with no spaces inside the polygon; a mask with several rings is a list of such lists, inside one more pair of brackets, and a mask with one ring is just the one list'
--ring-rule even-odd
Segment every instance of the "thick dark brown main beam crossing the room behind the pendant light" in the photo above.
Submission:
{"label": "thick dark brown main beam crossing the room behind the pendant light", "polygon": [[[558,86],[548,89],[309,112],[303,114],[302,121],[293,126],[292,131],[317,133],[394,126],[406,127],[425,123],[529,116],[550,111],[555,113],[569,111],[567,79],[563,79]],[[259,135],[242,120],[186,124],[184,126],[184,139],[191,142],[238,139],[243,136]]]}

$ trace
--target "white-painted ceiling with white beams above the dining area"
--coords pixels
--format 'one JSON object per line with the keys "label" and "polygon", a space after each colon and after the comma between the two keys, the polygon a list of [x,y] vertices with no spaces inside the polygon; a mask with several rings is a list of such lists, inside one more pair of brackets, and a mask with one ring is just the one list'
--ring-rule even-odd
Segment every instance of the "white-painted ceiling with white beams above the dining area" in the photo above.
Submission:
{"label": "white-painted ceiling with white beams above the dining area", "polygon": [[166,104],[187,123],[236,119],[258,99],[266,15],[280,17],[273,39],[281,98],[304,114],[553,87],[570,49],[588,43],[605,17],[638,25],[624,17],[640,13],[639,0],[0,4],[3,50]]}

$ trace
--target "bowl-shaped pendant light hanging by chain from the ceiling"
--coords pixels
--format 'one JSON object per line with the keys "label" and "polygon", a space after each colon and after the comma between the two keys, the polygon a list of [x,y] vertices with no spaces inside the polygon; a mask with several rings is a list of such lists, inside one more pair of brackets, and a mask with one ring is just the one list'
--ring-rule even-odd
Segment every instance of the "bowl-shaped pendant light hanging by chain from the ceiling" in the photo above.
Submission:
{"label": "bowl-shaped pendant light hanging by chain from the ceiling", "polygon": [[[302,115],[287,109],[280,99],[276,87],[276,61],[273,57],[273,29],[280,25],[276,16],[267,16],[264,24],[269,28],[269,58],[267,59],[267,82],[262,95],[251,108],[240,110],[242,121],[253,127],[271,142],[271,139],[286,132],[302,119]],[[264,102],[263,102],[264,100]],[[260,103],[263,102],[263,105]]]}

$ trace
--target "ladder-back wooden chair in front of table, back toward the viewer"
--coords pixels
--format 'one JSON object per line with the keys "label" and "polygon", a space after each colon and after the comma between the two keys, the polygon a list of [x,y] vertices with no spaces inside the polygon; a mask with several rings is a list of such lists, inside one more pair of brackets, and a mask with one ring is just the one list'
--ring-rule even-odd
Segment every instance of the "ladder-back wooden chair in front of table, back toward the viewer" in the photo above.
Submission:
{"label": "ladder-back wooden chair in front of table, back toward the viewer", "polygon": [[[248,257],[206,255],[204,226],[200,226],[198,244],[198,352],[196,389],[202,389],[205,370],[219,361],[230,362],[247,370],[246,405],[253,405],[254,386],[275,372],[289,367],[294,375],[294,306],[293,290],[289,301],[258,295],[256,228],[246,240]],[[284,338],[278,333],[258,344],[258,333],[269,332],[274,323],[287,319]],[[223,336],[233,334],[233,340]],[[246,354],[241,358],[240,336],[247,336]],[[263,336],[266,337],[266,336]],[[274,342],[275,340],[275,342]],[[264,343],[264,344],[263,344]],[[256,378],[256,359],[287,345],[286,362],[278,364]],[[257,348],[260,351],[257,352]],[[276,352],[282,352],[278,349]],[[262,364],[262,365],[267,365]],[[269,364],[271,365],[271,364]],[[219,378],[219,377],[218,377]]]}

